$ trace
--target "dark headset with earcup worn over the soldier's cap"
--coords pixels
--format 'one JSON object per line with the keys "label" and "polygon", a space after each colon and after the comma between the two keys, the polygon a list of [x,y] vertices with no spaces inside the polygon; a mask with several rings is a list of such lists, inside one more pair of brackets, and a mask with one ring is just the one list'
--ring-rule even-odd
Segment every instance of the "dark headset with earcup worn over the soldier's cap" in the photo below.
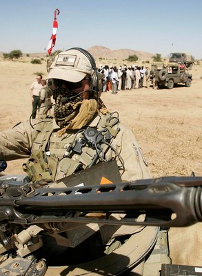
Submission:
{"label": "dark headset with earcup worn over the soldier's cap", "polygon": [[70,48],[68,50],[78,50],[79,52],[82,52],[82,54],[85,55],[85,57],[87,57],[88,60],[90,61],[92,70],[94,70],[94,72],[90,76],[90,92],[92,93],[92,97],[94,97],[95,99],[99,99],[102,92],[102,80],[101,80],[102,77],[101,77],[101,73],[98,72],[97,70],[94,58],[92,57],[90,52],[88,52],[87,50],[84,50],[83,48],[76,47],[76,48]]}

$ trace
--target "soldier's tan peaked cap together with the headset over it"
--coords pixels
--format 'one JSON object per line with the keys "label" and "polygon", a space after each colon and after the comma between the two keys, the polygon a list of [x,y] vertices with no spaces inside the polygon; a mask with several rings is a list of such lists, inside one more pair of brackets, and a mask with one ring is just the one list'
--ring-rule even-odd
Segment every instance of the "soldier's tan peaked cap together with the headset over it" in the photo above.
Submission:
{"label": "soldier's tan peaked cap together with the headset over it", "polygon": [[46,79],[62,79],[77,83],[86,75],[90,75],[91,95],[98,99],[102,92],[102,75],[97,70],[94,58],[83,48],[70,48],[54,58]]}

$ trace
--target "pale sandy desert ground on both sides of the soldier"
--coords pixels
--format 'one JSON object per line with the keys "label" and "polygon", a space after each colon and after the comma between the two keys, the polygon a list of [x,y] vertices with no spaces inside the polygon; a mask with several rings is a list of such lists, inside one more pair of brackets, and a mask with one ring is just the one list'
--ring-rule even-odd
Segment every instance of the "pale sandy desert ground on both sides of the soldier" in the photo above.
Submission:
{"label": "pale sandy desert ground on both sides of the soldier", "polygon": [[[105,92],[102,99],[110,110],[117,110],[121,121],[132,128],[148,159],[152,177],[202,175],[202,65],[190,71],[192,86],[172,90],[141,88]],[[0,59],[0,130],[28,120],[32,111],[30,84],[36,74],[46,77],[46,61]],[[7,173],[22,173],[23,160],[8,162]]]}

